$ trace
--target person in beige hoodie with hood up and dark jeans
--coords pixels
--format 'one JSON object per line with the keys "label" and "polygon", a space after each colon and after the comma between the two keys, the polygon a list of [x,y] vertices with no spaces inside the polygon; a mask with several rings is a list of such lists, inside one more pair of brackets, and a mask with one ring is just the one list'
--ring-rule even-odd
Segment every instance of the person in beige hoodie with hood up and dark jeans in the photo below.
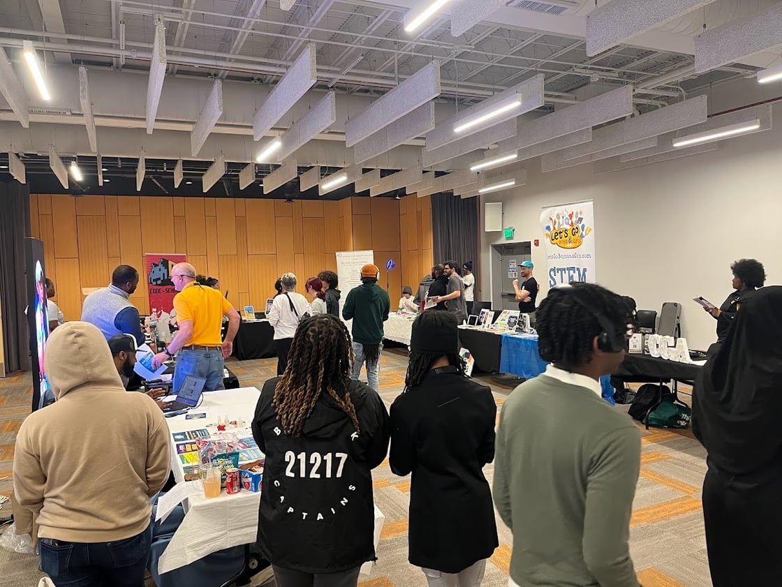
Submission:
{"label": "person in beige hoodie with hood up and dark jeans", "polygon": [[142,587],[149,499],[166,482],[170,433],[149,396],[126,393],[106,338],[86,322],[52,332],[45,368],[56,402],[16,436],[13,492],[38,524],[56,585]]}

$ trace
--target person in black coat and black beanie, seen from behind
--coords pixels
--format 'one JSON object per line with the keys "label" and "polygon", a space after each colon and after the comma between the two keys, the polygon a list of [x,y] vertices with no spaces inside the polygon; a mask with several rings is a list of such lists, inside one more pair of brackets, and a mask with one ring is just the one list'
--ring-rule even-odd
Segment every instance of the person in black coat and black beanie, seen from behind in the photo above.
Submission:
{"label": "person in black coat and black beanie, seen from behind", "polygon": [[478,587],[497,548],[489,483],[497,404],[470,381],[457,320],[424,312],[413,323],[404,392],[391,406],[389,464],[412,473],[409,560],[429,587]]}

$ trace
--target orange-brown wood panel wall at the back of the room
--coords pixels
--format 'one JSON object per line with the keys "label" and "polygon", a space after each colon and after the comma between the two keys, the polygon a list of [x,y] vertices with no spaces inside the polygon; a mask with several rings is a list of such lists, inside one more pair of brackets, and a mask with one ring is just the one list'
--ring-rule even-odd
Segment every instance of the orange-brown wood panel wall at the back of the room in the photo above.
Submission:
{"label": "orange-brown wood panel wall at the back of the room", "polygon": [[[336,270],[338,251],[375,251],[379,284],[388,283],[392,306],[403,285],[415,290],[432,267],[428,196],[286,203],[37,194],[30,195],[30,233],[44,242],[46,274],[66,320],[81,317],[82,288],[106,287],[121,263],[143,274],[148,252],[185,253],[199,273],[220,280],[237,308],[263,308],[286,271],[303,283],[321,270]],[[386,273],[388,259],[396,267]],[[131,302],[149,313],[143,277]]]}

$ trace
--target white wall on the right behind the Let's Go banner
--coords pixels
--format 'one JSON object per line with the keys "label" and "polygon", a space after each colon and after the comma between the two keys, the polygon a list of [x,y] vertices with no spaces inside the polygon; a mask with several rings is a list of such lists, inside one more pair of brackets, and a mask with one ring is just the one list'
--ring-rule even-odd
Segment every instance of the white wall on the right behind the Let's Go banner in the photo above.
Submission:
{"label": "white wall on the right behind the Let's Go banner", "polygon": [[[774,89],[782,94],[782,84]],[[753,102],[743,98],[740,104]],[[720,106],[735,107],[734,98],[723,97]],[[731,292],[730,263],[759,259],[766,283],[782,283],[782,104],[774,115],[772,131],[723,141],[715,152],[612,174],[594,175],[591,164],[541,174],[540,163],[530,161],[525,186],[482,202],[504,203],[504,226],[516,228],[515,241],[541,239],[533,262],[542,299],[541,210],[593,199],[597,283],[632,296],[639,309],[659,312],[662,302],[680,302],[684,336],[691,348],[705,349],[716,340],[716,321],[691,299],[721,304]],[[500,242],[501,232],[482,232],[482,299],[490,299],[490,245]]]}

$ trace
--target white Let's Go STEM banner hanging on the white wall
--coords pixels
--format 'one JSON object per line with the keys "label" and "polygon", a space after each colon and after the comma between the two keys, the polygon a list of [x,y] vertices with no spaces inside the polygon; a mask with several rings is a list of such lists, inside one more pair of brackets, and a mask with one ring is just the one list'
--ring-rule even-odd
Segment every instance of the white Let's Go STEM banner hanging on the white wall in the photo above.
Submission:
{"label": "white Let's Go STEM banner hanging on the white wall", "polygon": [[546,243],[548,286],[571,281],[595,282],[592,201],[543,210],[540,227]]}

